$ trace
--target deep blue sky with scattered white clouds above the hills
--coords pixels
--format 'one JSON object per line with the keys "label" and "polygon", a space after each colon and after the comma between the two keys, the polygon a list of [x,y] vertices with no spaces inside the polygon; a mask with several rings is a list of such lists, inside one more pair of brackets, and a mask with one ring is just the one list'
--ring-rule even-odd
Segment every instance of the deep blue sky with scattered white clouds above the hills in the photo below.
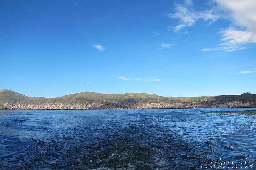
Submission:
{"label": "deep blue sky with scattered white clouds above the hills", "polygon": [[255,0],[2,0],[0,89],[256,94],[255,18]]}

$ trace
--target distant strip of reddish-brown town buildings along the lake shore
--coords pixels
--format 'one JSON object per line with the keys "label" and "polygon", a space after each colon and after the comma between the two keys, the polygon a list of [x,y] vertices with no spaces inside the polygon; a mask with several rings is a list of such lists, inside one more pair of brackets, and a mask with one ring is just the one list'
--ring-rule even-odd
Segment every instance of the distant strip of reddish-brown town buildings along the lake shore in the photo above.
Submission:
{"label": "distant strip of reddish-brown town buildings along the lake shore", "polygon": [[239,108],[256,107],[255,103],[231,101],[224,104],[198,104],[198,103],[129,103],[115,102],[107,104],[2,104],[2,110],[69,110],[69,109],[170,109],[170,108]]}

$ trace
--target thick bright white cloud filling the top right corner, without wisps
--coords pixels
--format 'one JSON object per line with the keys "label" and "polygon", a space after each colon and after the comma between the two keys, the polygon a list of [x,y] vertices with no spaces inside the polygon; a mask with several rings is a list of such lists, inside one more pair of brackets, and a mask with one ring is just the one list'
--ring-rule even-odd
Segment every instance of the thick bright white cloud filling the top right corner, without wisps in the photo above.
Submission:
{"label": "thick bright white cloud filling the top right corner, without wisps", "polygon": [[247,43],[256,43],[256,1],[255,0],[215,0],[220,9],[226,12],[234,26],[226,28],[220,33],[226,51],[246,49],[241,47]]}

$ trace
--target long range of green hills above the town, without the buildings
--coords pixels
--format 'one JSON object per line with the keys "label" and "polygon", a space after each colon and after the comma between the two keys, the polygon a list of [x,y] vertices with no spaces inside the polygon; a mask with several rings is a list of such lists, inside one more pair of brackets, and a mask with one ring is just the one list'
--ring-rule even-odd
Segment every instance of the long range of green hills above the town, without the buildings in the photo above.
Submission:
{"label": "long range of green hills above the town, without the buildings", "polygon": [[156,94],[126,93],[126,94],[101,94],[94,92],[81,92],[55,98],[28,97],[11,90],[0,90],[0,104],[104,104],[116,102],[128,103],[226,103],[230,101],[256,102],[256,94],[244,93],[241,95],[202,96],[202,97],[163,97]]}

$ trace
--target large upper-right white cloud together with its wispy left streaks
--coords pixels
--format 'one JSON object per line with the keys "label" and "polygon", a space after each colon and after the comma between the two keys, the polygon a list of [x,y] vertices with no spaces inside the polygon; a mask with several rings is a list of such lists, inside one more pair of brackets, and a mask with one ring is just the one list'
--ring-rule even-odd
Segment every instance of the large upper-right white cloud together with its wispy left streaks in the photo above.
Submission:
{"label": "large upper-right white cloud together with its wispy left streaks", "polygon": [[[195,11],[191,0],[185,4],[176,4],[175,13],[170,13],[169,18],[179,19],[179,25],[174,27],[174,32],[193,26],[197,20],[202,19],[208,25],[218,19],[228,19],[233,26],[222,28],[223,43],[216,48],[204,48],[199,51],[225,50],[227,52],[247,49],[243,45],[256,43],[256,1],[255,0],[214,0],[215,4],[209,10]],[[190,9],[190,10],[189,10]]]}

